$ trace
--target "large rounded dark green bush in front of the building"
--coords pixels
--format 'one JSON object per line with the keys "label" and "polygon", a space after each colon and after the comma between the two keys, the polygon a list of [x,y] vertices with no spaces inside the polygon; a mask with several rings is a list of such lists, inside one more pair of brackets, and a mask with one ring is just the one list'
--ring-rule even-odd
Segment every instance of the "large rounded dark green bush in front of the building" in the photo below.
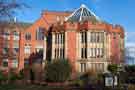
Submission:
{"label": "large rounded dark green bush in front of the building", "polygon": [[45,69],[45,79],[49,82],[64,82],[72,72],[71,65],[65,59],[48,63]]}

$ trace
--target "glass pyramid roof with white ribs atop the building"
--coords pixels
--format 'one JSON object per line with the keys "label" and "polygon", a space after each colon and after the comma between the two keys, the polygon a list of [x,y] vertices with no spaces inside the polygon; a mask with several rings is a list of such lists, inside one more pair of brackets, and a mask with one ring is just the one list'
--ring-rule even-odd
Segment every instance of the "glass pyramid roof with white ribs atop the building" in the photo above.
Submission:
{"label": "glass pyramid roof with white ribs atop the building", "polygon": [[82,22],[82,21],[101,21],[87,6],[82,4],[70,16],[66,17],[65,21]]}

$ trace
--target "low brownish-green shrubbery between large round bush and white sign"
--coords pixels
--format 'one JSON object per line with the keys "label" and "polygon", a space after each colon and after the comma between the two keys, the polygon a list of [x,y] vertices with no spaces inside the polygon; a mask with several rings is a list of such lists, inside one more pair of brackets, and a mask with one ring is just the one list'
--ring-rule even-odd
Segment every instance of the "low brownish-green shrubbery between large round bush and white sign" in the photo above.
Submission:
{"label": "low brownish-green shrubbery between large round bush and white sign", "polygon": [[95,71],[89,70],[82,75],[79,75],[75,80],[71,81],[69,85],[72,86],[94,86],[94,85],[103,85],[103,75]]}

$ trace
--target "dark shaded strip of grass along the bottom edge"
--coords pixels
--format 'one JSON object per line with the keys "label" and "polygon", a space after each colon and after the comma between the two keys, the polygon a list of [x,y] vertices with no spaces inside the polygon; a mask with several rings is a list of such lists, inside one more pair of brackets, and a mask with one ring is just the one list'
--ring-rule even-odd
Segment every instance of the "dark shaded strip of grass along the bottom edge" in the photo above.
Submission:
{"label": "dark shaded strip of grass along the bottom edge", "polygon": [[[61,86],[41,86],[41,85],[0,85],[0,90],[125,90],[124,88],[95,88],[90,89],[89,87],[61,87]],[[135,89],[128,89],[135,90]]]}

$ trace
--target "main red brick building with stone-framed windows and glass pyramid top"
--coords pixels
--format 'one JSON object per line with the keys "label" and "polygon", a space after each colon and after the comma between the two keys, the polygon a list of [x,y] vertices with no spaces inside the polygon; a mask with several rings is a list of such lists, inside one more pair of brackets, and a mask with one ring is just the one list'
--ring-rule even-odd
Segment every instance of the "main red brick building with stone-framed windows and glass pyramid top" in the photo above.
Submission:
{"label": "main red brick building with stone-framed windows and glass pyramid top", "polygon": [[[10,37],[9,48],[13,48]],[[33,25],[19,31],[18,43],[18,69],[39,50],[43,50],[44,61],[65,58],[77,72],[106,71],[108,64],[124,60],[123,28],[102,21],[85,5],[74,12],[44,11]],[[6,60],[10,62],[1,61]]]}

